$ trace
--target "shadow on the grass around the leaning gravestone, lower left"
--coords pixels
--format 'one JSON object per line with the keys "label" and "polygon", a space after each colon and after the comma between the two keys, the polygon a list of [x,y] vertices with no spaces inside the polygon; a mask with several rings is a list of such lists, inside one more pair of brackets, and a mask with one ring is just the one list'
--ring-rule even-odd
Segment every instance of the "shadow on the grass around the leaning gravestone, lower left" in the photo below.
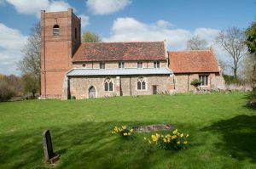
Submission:
{"label": "shadow on the grass around the leaning gravestone, lower left", "polygon": [[[132,124],[132,122],[122,122]],[[58,168],[149,168],[166,154],[152,153],[142,139],[132,141],[111,134],[118,122],[84,122],[51,127],[53,148],[61,155]],[[45,129],[45,128],[44,128]],[[43,128],[0,135],[0,168],[45,168]]]}

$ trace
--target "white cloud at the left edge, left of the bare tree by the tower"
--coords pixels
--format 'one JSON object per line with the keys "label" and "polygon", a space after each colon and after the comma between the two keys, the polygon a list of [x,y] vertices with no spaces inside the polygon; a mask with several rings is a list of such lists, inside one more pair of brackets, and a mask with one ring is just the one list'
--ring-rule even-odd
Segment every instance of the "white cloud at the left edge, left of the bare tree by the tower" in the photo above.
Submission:
{"label": "white cloud at the left edge, left of the bare tree by the tower", "polygon": [[0,23],[0,73],[19,74],[16,62],[22,58],[20,52],[26,43],[26,36],[20,31]]}

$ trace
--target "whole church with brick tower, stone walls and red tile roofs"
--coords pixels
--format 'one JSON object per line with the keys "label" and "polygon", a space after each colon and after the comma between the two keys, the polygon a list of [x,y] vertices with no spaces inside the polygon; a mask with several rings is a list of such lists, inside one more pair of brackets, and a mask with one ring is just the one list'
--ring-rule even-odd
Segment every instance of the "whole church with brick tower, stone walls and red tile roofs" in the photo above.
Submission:
{"label": "whole church with brick tower, stone walls and red tile roofs", "polygon": [[41,11],[41,94],[76,99],[188,92],[223,87],[212,51],[168,52],[162,42],[81,43],[81,19],[69,8]]}

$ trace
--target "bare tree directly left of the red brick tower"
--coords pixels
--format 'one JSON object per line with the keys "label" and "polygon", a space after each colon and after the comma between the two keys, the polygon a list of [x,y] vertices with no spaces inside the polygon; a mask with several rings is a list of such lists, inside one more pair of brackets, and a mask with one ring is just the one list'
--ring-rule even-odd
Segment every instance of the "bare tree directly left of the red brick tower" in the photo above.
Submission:
{"label": "bare tree directly left of the red brick tower", "polygon": [[[24,48],[21,50],[23,58],[17,65],[22,74],[30,74],[35,76],[40,84],[40,70],[41,70],[41,25],[40,23],[34,25],[31,34],[27,39]],[[38,85],[40,87],[40,85]],[[38,91],[39,88],[38,88]]]}

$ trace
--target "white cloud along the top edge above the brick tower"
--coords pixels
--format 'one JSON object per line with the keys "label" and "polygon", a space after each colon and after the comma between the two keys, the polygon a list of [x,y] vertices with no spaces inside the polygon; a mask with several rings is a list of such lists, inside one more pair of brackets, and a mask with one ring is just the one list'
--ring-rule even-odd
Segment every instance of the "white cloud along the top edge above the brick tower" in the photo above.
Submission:
{"label": "white cloud along the top edge above the brick tower", "polygon": [[20,14],[36,14],[39,18],[41,10],[47,12],[66,11],[67,8],[72,8],[64,1],[55,0],[6,0],[12,4]]}

